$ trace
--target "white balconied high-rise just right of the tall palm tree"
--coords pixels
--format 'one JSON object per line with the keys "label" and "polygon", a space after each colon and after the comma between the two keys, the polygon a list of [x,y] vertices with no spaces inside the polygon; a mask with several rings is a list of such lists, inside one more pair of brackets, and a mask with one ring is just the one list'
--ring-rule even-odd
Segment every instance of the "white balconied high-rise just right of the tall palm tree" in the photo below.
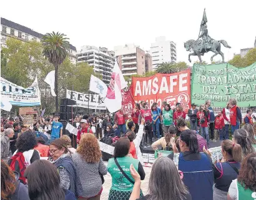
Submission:
{"label": "white balconied high-rise just right of the tall palm tree", "polygon": [[94,72],[102,74],[102,81],[109,83],[111,80],[112,69],[115,64],[115,52],[107,50],[105,47],[94,47],[84,45],[77,53],[77,63],[87,62],[94,66]]}

